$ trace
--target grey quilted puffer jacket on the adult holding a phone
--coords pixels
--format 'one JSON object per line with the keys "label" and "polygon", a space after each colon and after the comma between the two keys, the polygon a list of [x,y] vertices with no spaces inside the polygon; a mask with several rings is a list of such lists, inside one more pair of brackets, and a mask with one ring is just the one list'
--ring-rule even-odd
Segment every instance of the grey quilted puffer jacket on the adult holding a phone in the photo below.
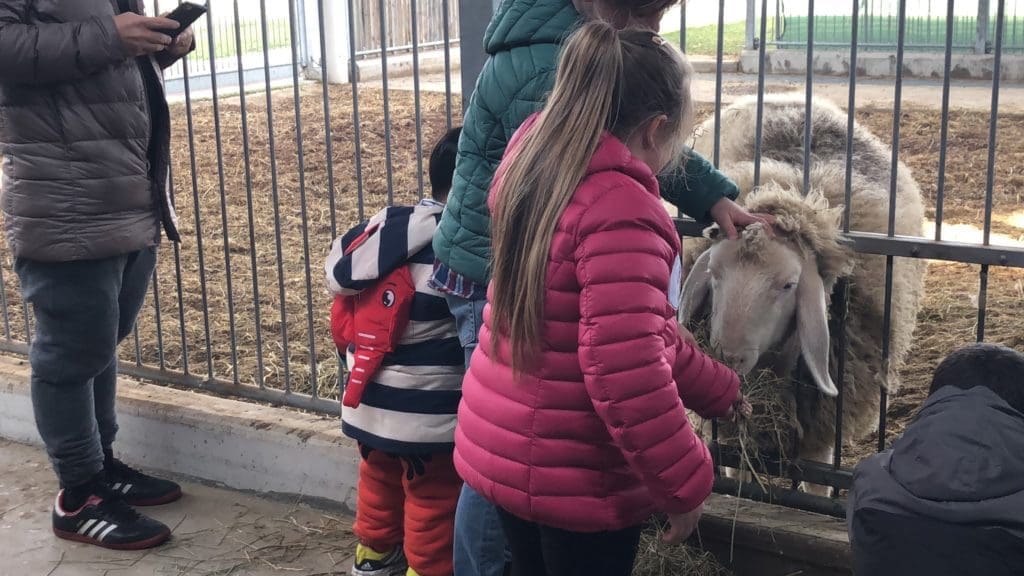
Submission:
{"label": "grey quilted puffer jacket on the adult holding a phone", "polygon": [[[132,58],[116,0],[0,0],[0,156],[15,257],[96,259],[177,241],[162,67]],[[140,0],[126,6],[141,13]]]}

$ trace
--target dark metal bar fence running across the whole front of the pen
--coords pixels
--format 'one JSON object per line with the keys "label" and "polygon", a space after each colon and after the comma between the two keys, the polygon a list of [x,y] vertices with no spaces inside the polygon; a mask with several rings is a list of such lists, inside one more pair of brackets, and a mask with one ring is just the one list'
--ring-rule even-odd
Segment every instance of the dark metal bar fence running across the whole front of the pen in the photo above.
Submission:
{"label": "dark metal bar fence running across the whole front of the pen", "polygon": [[[273,404],[335,414],[338,412],[340,370],[328,329],[330,297],[322,287],[323,257],[331,241],[341,232],[365,219],[385,205],[411,202],[424,194],[424,150],[460,115],[461,86],[472,83],[482,65],[479,49],[483,27],[492,6],[486,2],[460,2],[461,35],[464,42],[461,82],[453,70],[452,38],[443,41],[444,70],[421,74],[421,47],[414,42],[411,76],[395,76],[387,64],[387,30],[382,24],[382,78],[375,82],[332,84],[305,80],[303,56],[309,53],[321,63],[329,61],[333,46],[325,16],[326,3],[318,0],[303,7],[289,1],[285,6],[288,33],[275,33],[280,18],[268,14],[274,0],[258,0],[257,11],[247,10],[238,1],[230,10],[231,31],[207,27],[201,32],[206,46],[181,65],[181,98],[172,104],[173,193],[179,208],[184,241],[167,245],[155,274],[150,304],[139,320],[133,337],[122,349],[123,371],[159,383],[189,386]],[[383,0],[381,0],[383,1]],[[411,0],[410,26],[418,34],[419,3]],[[759,0],[757,23],[760,37],[766,36],[771,16],[769,0]],[[850,35],[858,37],[862,0],[850,0]],[[896,22],[897,61],[902,63],[907,38],[906,0],[898,2]],[[950,0],[948,6],[952,6]],[[996,2],[992,52],[998,70],[1004,54],[1008,2]],[[215,3],[217,12],[226,12],[226,3]],[[337,7],[337,5],[335,6]],[[353,0],[347,0],[349,11]],[[157,10],[161,7],[156,6]],[[806,24],[807,58],[814,57],[815,2],[808,2]],[[682,11],[685,43],[685,8]],[[728,82],[721,66],[724,43],[724,0],[719,2],[718,72],[701,76],[698,83],[713,83],[714,111],[720,111],[727,92],[736,83]],[[258,30],[246,23],[258,22]],[[850,203],[846,203],[844,232],[856,250],[885,256],[886,289],[893,290],[894,258],[928,258],[978,265],[976,328],[978,340],[986,336],[989,275],[996,268],[1024,269],[1024,249],[992,245],[993,191],[996,181],[996,145],[1000,124],[1000,79],[991,80],[991,107],[987,114],[987,150],[980,165],[985,172],[981,206],[980,242],[950,242],[943,235],[943,207],[950,188],[946,179],[947,151],[951,123],[951,54],[955,50],[953,19],[946,19],[945,73],[934,85],[942,92],[941,109],[935,114],[941,133],[937,142],[934,198],[934,238],[901,238],[894,234],[890,215],[888,234],[866,234],[850,230]],[[355,24],[347,18],[348,54],[355,54]],[[383,20],[382,20],[383,23]],[[318,43],[303,45],[301,30],[316,29]],[[199,30],[199,29],[198,29]],[[340,31],[344,32],[344,31]],[[278,34],[278,36],[274,36]],[[275,47],[275,38],[287,38],[287,46]],[[217,54],[224,42],[233,43],[234,76],[238,90],[222,88],[221,59]],[[248,44],[247,44],[248,43]],[[259,46],[259,59],[245,61],[247,45]],[[274,50],[287,49],[287,74],[273,59]],[[858,44],[850,45],[851,72],[848,78],[849,134],[856,111],[859,80],[855,74]],[[766,46],[760,45],[760,73],[746,81],[756,84],[759,102],[769,90],[765,75]],[[200,63],[198,60],[203,60]],[[356,77],[356,58],[348,57],[351,77]],[[902,71],[902,66],[896,67]],[[246,75],[249,75],[248,77]],[[892,130],[893,180],[889,190],[890,210],[895,210],[897,163],[901,154],[901,118],[904,114],[901,72],[894,79],[895,97],[885,111]],[[200,81],[202,81],[200,83]],[[808,66],[804,90],[808,113],[815,93],[813,67]],[[759,115],[755,130],[760,145],[763,130]],[[716,139],[718,134],[716,134]],[[813,164],[805,135],[805,173]],[[1020,146],[1020,142],[1012,142]],[[717,158],[716,158],[717,160]],[[758,159],[759,161],[759,159]],[[846,190],[851,190],[854,157],[847,155]],[[1022,217],[1024,221],[1024,217]],[[689,220],[679,220],[683,235],[699,234]],[[1021,224],[1024,232],[1024,224]],[[0,312],[3,333],[0,349],[27,352],[32,336],[32,319],[22,301],[11,261],[3,248],[0,266]],[[841,285],[840,295],[845,296]],[[1024,290],[1024,289],[1022,289]],[[888,300],[889,298],[887,298]],[[891,302],[882,331],[888,348]],[[927,319],[925,319],[927,321]],[[842,333],[842,330],[840,331]],[[888,354],[888,349],[885,351]],[[843,382],[845,358],[841,356],[837,382]],[[840,396],[842,398],[842,394]],[[887,439],[887,402],[880,393],[881,419],[878,448]],[[842,404],[837,407],[841,413]],[[715,446],[720,463],[736,465],[736,454]],[[795,480],[829,485],[838,490],[833,497],[818,497],[792,490],[757,484],[737,485],[722,478],[718,489],[730,493],[777,501],[827,513],[842,515],[842,490],[850,485],[850,461],[844,455],[842,419],[838,420],[836,452],[831,462],[796,461],[785,472]]]}

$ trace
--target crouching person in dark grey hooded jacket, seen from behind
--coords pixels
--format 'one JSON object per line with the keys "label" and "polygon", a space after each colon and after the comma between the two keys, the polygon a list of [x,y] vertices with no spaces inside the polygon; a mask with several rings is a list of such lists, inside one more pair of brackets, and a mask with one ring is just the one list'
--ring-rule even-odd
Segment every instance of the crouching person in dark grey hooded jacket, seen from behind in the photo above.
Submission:
{"label": "crouching person in dark grey hooded jacket, seen from behind", "polygon": [[954,352],[890,450],[848,499],[858,576],[1024,574],[1024,355]]}

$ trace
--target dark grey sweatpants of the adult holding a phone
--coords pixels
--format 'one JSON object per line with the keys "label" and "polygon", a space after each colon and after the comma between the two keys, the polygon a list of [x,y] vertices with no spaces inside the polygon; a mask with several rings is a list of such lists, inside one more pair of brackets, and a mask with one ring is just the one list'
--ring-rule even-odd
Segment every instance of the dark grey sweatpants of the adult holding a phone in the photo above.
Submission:
{"label": "dark grey sweatpants of the adult holding a phone", "polygon": [[118,431],[118,343],[135,325],[156,263],[156,247],[100,260],[14,261],[36,317],[32,406],[61,487],[103,469]]}

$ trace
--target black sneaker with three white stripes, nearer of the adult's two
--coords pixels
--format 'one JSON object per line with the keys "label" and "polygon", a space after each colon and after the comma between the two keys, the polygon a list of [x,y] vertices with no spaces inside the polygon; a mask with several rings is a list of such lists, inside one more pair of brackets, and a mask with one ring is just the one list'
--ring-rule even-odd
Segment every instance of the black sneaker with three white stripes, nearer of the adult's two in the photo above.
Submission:
{"label": "black sneaker with three white stripes, nearer of the adult's two", "polygon": [[141,550],[171,536],[167,526],[144,517],[106,487],[98,487],[77,510],[62,506],[63,490],[53,504],[53,533],[58,538],[116,550]]}

